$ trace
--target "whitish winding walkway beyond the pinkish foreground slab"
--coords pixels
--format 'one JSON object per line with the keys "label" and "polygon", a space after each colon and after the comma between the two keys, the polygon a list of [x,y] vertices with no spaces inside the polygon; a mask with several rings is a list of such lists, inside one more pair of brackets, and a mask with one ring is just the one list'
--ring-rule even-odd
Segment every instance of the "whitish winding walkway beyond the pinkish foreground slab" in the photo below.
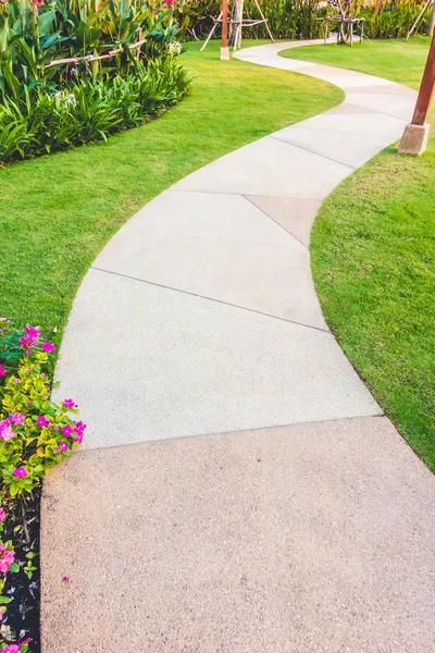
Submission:
{"label": "whitish winding walkway beyond the pinkish foreground slab", "polygon": [[277,56],[291,45],[237,58],[332,82],[346,102],[178,182],[89,270],[58,368],[87,447],[381,412],[324,321],[309,232],[331,190],[401,135],[415,94]]}

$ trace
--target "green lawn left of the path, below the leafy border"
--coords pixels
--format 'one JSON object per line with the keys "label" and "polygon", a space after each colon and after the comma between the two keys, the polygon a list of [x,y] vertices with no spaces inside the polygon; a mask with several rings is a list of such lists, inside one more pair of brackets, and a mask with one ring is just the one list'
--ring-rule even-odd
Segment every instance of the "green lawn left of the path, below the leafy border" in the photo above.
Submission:
{"label": "green lawn left of the path, below the leafy border", "polygon": [[0,170],[0,315],[57,328],[59,342],[87,268],[142,205],[217,157],[343,100],[322,82],[221,62],[219,45],[202,53],[188,46],[191,94],[160,119]]}

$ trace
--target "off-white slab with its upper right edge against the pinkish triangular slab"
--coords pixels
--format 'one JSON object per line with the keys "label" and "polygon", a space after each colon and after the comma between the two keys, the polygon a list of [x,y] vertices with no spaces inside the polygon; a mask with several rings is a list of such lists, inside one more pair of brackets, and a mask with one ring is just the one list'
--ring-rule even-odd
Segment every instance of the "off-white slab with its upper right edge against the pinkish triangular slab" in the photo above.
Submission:
{"label": "off-white slab with its upper right edge against the pinkish triangular slab", "polygon": [[307,247],[241,195],[167,190],[94,267],[327,330]]}

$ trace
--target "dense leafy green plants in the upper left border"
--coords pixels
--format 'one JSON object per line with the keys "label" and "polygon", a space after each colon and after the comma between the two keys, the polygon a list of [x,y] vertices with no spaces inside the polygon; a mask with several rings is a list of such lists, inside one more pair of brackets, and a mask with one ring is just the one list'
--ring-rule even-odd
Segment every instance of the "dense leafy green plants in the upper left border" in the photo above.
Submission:
{"label": "dense leafy green plants in the upper left border", "polygon": [[171,9],[142,0],[0,0],[0,161],[107,138],[189,79]]}

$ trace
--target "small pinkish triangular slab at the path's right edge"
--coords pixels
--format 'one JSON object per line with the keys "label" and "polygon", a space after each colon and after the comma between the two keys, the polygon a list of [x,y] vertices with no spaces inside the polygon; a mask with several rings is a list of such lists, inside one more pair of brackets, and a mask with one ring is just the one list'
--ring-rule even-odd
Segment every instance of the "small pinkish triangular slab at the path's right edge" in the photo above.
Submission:
{"label": "small pinkish triangular slab at the path's right edge", "polygon": [[322,200],[249,195],[249,200],[308,247],[311,226]]}

